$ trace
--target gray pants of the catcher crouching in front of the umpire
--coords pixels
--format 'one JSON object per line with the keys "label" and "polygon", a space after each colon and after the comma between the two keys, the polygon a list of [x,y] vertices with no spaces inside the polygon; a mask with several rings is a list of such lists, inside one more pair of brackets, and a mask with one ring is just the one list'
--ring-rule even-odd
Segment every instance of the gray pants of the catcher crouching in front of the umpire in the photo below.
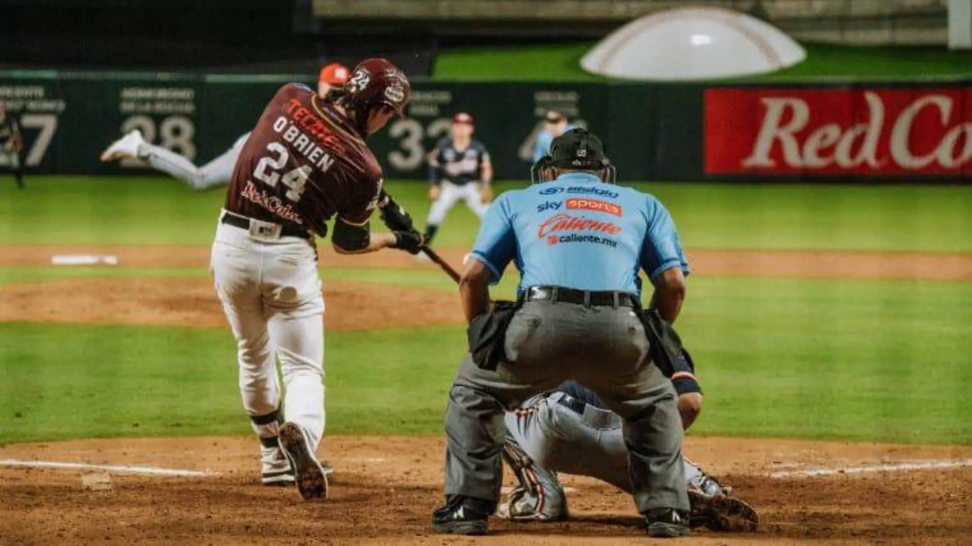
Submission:
{"label": "gray pants of the catcher crouching in front of the umpire", "polygon": [[[567,499],[558,472],[595,478],[632,493],[628,474],[628,448],[621,418],[591,405],[577,413],[560,403],[563,392],[536,396],[504,418],[506,438],[526,453],[526,468],[541,501],[533,502],[547,519],[567,513]],[[694,462],[683,459],[686,486],[703,476]]]}

